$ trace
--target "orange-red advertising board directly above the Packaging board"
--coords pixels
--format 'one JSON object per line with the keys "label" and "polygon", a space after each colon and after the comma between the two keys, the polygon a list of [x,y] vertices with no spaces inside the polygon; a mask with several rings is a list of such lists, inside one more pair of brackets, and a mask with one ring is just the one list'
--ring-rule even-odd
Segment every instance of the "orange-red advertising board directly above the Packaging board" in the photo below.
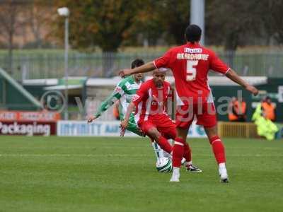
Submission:
{"label": "orange-red advertising board directly above the Packaging board", "polygon": [[36,122],[57,122],[61,119],[58,112],[26,112],[26,111],[8,111],[0,110],[0,121],[36,121]]}

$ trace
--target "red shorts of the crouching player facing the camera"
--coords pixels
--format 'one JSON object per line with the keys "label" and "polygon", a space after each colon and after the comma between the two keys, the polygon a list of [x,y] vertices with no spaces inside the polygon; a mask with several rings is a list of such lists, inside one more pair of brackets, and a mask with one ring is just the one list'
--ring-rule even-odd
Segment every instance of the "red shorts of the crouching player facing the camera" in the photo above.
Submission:
{"label": "red shorts of the crouching player facing the camera", "polygon": [[148,136],[148,131],[153,127],[166,139],[175,139],[177,136],[176,125],[166,114],[150,117],[146,121],[140,121],[138,125]]}

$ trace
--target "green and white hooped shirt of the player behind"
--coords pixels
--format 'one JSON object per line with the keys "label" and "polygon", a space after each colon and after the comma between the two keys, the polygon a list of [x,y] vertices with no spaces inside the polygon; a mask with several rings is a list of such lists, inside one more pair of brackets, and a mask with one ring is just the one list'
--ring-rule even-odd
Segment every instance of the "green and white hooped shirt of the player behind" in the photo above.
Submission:
{"label": "green and white hooped shirt of the player behind", "polygon": [[101,103],[95,116],[100,117],[105,110],[108,110],[111,105],[113,105],[117,100],[120,100],[119,114],[120,117],[124,118],[124,115],[127,112],[127,107],[132,101],[134,94],[137,93],[141,83],[142,81],[139,81],[139,83],[134,81],[134,76],[128,76],[127,78],[122,79],[122,81],[120,81],[120,83],[118,83],[115,87],[113,93]]}

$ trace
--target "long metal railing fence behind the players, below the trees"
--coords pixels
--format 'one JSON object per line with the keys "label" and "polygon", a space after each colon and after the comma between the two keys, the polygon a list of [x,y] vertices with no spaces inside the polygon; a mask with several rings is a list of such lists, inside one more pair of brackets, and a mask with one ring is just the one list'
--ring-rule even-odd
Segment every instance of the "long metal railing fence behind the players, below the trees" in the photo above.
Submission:
{"label": "long metal railing fence behind the players, below the trees", "polygon": [[[110,77],[117,70],[129,68],[137,57],[151,61],[160,57],[163,52],[137,53],[96,53],[69,54],[69,76]],[[282,53],[221,53],[221,59],[226,61],[242,76],[283,77]],[[18,54],[13,56],[13,78],[21,81],[33,78],[62,78],[64,76],[64,54]],[[0,67],[8,70],[9,59],[0,55]]]}

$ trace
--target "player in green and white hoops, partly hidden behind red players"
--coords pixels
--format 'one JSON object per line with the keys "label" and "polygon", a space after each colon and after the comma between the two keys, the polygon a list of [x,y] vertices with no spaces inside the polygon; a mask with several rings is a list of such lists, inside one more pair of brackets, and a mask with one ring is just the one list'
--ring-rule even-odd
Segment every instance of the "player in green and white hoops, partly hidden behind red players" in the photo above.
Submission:
{"label": "player in green and white hoops, partly hidden behind red players", "polygon": [[[135,59],[132,61],[132,69],[135,67],[141,66],[144,64],[142,59]],[[128,76],[127,78],[122,79],[117,86],[115,87],[113,93],[104,100],[100,107],[98,108],[98,112],[94,114],[94,116],[88,119],[88,123],[93,122],[93,120],[100,117],[100,115],[108,110],[115,102],[119,100],[119,115],[120,120],[124,119],[125,113],[127,112],[127,107],[132,100],[132,97],[137,93],[137,90],[141,86],[143,75],[142,73],[136,73],[132,76]],[[134,120],[134,113],[131,114],[129,118],[129,124],[127,126],[127,130],[132,131],[134,134],[139,136],[145,136],[144,132],[139,129],[137,123]],[[152,146],[154,148],[154,152],[157,160],[159,158],[164,157],[163,150],[158,146],[156,142],[152,142]]]}

